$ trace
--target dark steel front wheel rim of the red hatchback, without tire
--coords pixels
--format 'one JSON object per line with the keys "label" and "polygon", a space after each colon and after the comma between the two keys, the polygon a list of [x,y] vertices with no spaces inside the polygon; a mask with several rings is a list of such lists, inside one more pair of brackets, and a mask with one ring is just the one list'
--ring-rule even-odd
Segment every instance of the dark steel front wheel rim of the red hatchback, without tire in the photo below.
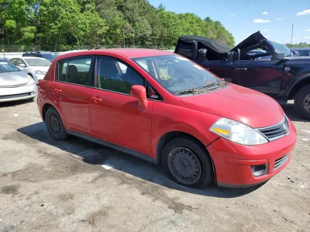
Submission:
{"label": "dark steel front wheel rim of the red hatchback, without tire", "polygon": [[202,175],[200,160],[188,148],[178,146],[173,148],[168,156],[168,167],[182,184],[195,184]]}

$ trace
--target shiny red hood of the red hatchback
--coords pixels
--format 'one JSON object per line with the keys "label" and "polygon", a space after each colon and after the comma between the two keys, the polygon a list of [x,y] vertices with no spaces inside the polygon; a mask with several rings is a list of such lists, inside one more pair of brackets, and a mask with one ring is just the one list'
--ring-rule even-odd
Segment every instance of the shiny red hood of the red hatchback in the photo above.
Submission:
{"label": "shiny red hood of the red hatchback", "polygon": [[233,84],[214,92],[181,99],[190,109],[227,117],[252,128],[277,124],[284,116],[281,106],[272,98]]}

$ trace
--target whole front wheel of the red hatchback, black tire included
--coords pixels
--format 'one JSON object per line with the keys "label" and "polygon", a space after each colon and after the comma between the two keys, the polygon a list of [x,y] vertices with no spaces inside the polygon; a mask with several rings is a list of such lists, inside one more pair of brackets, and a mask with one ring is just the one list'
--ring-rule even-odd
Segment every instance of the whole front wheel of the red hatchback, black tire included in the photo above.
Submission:
{"label": "whole front wheel of the red hatchback, black tire included", "polygon": [[164,147],[162,164],[171,180],[189,188],[203,189],[214,180],[209,154],[202,144],[192,138],[171,140]]}

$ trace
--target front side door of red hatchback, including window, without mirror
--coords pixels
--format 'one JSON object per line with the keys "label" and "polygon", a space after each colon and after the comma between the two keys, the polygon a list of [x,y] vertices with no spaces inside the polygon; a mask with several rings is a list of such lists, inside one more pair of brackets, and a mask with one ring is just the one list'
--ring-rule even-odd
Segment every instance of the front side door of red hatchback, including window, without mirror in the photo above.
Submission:
{"label": "front side door of red hatchback, including window, without mirror", "polygon": [[128,64],[111,57],[96,59],[96,88],[89,105],[92,135],[143,154],[150,153],[153,101],[146,109],[130,96],[132,85],[144,78]]}

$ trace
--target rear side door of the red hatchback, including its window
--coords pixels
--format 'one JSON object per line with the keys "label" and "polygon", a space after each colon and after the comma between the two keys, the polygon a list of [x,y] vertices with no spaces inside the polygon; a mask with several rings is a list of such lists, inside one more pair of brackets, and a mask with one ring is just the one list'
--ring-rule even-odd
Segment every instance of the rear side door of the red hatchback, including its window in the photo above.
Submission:
{"label": "rear side door of the red hatchback, including its window", "polygon": [[94,87],[93,57],[69,58],[58,61],[53,84],[54,98],[66,129],[91,133],[89,93]]}

